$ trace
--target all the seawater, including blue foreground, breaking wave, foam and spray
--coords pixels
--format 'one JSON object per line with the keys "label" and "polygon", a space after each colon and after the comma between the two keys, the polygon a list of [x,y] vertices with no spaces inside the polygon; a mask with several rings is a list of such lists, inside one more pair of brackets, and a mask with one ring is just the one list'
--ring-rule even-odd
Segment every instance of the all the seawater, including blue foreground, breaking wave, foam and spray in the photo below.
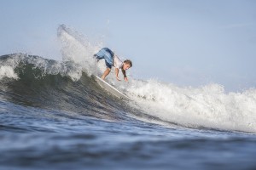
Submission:
{"label": "all the seawater, including blue foreground, breaking wave, foam and spray", "polygon": [[256,169],[256,90],[91,77],[104,63],[60,26],[63,59],[0,56],[0,169]]}

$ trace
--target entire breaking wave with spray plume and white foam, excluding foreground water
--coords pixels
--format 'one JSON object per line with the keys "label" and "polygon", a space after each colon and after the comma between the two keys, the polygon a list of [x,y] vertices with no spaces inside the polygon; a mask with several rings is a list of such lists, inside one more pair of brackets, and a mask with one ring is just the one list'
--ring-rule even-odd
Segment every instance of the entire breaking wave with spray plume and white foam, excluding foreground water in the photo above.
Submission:
{"label": "entire breaking wave with spray plume and white foam, excluding foreground water", "polygon": [[104,70],[104,63],[96,64],[91,57],[99,44],[91,45],[67,26],[59,27],[58,37],[63,45],[63,61],[27,54],[0,58],[1,99],[108,120],[132,117],[167,126],[256,133],[254,88],[225,93],[219,84],[178,87],[133,77],[125,83],[117,82],[110,74],[108,82],[132,99],[126,102],[108,94],[90,77]]}

